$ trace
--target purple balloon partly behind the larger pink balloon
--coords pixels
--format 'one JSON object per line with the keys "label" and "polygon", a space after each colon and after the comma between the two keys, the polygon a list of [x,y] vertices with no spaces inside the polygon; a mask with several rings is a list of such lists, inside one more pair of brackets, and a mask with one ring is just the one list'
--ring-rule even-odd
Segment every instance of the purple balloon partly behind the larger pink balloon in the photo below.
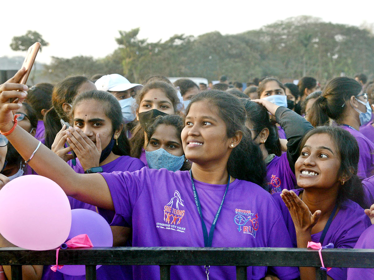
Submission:
{"label": "purple balloon partly behind the larger pink balloon", "polygon": [[[71,228],[67,240],[79,234],[87,234],[94,247],[113,246],[113,234],[109,224],[92,210],[71,210]],[[101,265],[96,265],[96,269],[99,267]],[[64,265],[57,271],[67,275],[80,276],[86,274],[86,267],[85,265]]]}

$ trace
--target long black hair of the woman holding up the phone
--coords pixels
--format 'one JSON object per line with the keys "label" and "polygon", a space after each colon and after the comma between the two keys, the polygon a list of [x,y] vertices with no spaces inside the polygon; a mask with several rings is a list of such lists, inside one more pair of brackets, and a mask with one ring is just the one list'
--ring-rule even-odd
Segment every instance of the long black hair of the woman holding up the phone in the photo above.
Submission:
{"label": "long black hair of the woman holding up the phone", "polygon": [[227,161],[227,171],[234,178],[250,181],[267,189],[265,184],[266,165],[260,147],[254,143],[249,129],[245,126],[246,111],[240,100],[221,90],[205,90],[192,97],[185,115],[195,102],[209,102],[209,107],[217,107],[217,113],[226,123],[227,137],[233,137],[238,131],[243,133],[239,145],[233,148]]}

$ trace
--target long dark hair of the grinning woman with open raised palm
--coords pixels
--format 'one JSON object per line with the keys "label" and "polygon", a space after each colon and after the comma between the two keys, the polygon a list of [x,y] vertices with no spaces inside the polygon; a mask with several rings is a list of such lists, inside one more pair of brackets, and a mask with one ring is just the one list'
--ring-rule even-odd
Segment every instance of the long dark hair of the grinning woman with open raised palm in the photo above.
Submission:
{"label": "long dark hair of the grinning woman with open raised palm", "polygon": [[337,126],[320,126],[308,131],[304,135],[300,142],[299,156],[306,141],[315,134],[328,134],[331,137],[340,156],[338,177],[344,175],[350,177],[348,181],[341,184],[338,190],[338,206],[344,207],[344,202],[350,199],[358,203],[362,208],[367,209],[369,205],[365,202],[361,179],[357,176],[359,148],[356,138],[343,128]]}

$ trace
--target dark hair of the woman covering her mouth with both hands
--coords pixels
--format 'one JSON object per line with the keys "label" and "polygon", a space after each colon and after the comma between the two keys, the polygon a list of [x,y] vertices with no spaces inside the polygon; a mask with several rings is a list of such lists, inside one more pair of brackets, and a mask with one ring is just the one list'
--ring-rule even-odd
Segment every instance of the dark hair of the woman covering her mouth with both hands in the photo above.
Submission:
{"label": "dark hair of the woman covering her mouth with both hands", "polygon": [[118,145],[114,144],[112,152],[119,156],[128,156],[130,154],[130,144],[126,137],[126,127],[122,119],[121,106],[118,100],[113,94],[107,91],[101,90],[91,90],[81,93],[74,99],[70,111],[70,121],[72,121],[74,116],[75,108],[82,102],[87,100],[96,100],[102,106],[105,116],[107,116],[112,122],[113,134],[114,131],[118,130],[123,124],[123,129],[118,137]]}

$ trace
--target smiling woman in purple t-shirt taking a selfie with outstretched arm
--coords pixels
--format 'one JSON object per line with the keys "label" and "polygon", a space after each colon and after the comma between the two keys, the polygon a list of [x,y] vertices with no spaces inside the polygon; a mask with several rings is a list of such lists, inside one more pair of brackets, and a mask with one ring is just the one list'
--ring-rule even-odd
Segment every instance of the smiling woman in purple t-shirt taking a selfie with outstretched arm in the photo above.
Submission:
{"label": "smiling woman in purple t-shirt taking a selfie with outstretched arm", "polygon": [[[16,91],[22,85],[15,82],[23,72],[0,87],[1,131],[9,131],[14,125],[11,110],[19,105],[8,102],[11,97],[22,97]],[[182,144],[187,158],[191,156],[194,161],[191,173],[142,168],[135,172],[76,174],[43,145],[30,165],[38,174],[56,181],[67,195],[115,210],[112,225],[132,227],[133,246],[291,246],[281,211],[270,194],[256,184],[263,183],[266,170],[260,149],[248,137],[245,108],[239,99],[223,91],[199,93],[191,100],[186,118]],[[71,127],[69,131],[75,136],[80,130]],[[18,126],[7,137],[24,158],[39,143]],[[236,158],[238,153],[242,155]],[[240,162],[243,158],[251,164]],[[199,205],[195,203],[197,196]],[[245,214],[237,209],[245,210]],[[293,267],[248,267],[248,279],[261,279],[267,271],[282,280],[298,277]],[[209,272],[223,280],[234,279],[236,270],[214,266]],[[134,279],[159,279],[159,273],[160,268],[152,265],[133,269]],[[203,266],[171,268],[173,280],[204,276]]]}

